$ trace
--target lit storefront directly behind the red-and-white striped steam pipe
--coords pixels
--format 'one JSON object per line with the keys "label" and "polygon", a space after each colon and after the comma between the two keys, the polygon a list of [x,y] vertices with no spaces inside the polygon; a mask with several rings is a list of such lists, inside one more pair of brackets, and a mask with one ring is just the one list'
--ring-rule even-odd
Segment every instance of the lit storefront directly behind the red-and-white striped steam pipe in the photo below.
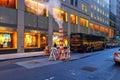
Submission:
{"label": "lit storefront directly behind the red-and-white striped steam pipe", "polygon": [[[68,46],[68,37],[66,35],[63,36],[63,42],[64,42],[64,47]],[[57,44],[57,46],[59,46],[59,33],[58,32],[54,32],[53,33],[53,44]]]}

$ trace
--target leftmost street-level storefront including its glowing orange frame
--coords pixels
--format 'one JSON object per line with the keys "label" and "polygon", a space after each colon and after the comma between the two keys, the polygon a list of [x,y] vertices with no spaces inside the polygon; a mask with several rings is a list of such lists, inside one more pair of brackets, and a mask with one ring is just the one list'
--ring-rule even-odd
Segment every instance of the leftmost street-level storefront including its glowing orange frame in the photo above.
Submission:
{"label": "leftmost street-level storefront including its glowing orange frame", "polygon": [[16,52],[17,50],[17,32],[15,29],[0,27],[0,54],[2,52]]}

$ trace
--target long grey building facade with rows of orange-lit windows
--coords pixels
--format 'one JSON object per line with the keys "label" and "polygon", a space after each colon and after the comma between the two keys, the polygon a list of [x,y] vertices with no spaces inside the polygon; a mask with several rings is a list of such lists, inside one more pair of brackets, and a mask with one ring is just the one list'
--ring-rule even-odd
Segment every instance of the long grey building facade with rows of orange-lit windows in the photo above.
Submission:
{"label": "long grey building facade with rows of orange-lit windows", "polygon": [[[0,0],[0,53],[40,51],[59,45],[58,24],[45,8],[49,0]],[[105,0],[60,0],[64,46],[70,45],[71,33],[113,37],[109,27],[109,9]]]}

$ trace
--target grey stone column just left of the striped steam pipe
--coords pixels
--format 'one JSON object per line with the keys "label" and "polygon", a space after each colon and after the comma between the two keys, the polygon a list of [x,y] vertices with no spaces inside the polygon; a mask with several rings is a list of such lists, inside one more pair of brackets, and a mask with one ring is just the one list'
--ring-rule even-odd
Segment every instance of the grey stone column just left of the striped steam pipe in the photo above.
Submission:
{"label": "grey stone column just left of the striped steam pipe", "polygon": [[48,23],[48,45],[52,46],[52,39],[53,39],[53,18],[49,14],[49,23]]}

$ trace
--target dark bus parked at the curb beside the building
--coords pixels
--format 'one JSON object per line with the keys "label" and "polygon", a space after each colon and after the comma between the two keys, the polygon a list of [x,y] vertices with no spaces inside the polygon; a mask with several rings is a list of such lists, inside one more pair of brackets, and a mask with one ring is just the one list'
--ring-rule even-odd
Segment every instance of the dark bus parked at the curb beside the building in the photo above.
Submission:
{"label": "dark bus parked at the curb beside the building", "polygon": [[70,36],[70,50],[76,52],[92,52],[104,49],[105,38],[83,33],[72,33]]}

